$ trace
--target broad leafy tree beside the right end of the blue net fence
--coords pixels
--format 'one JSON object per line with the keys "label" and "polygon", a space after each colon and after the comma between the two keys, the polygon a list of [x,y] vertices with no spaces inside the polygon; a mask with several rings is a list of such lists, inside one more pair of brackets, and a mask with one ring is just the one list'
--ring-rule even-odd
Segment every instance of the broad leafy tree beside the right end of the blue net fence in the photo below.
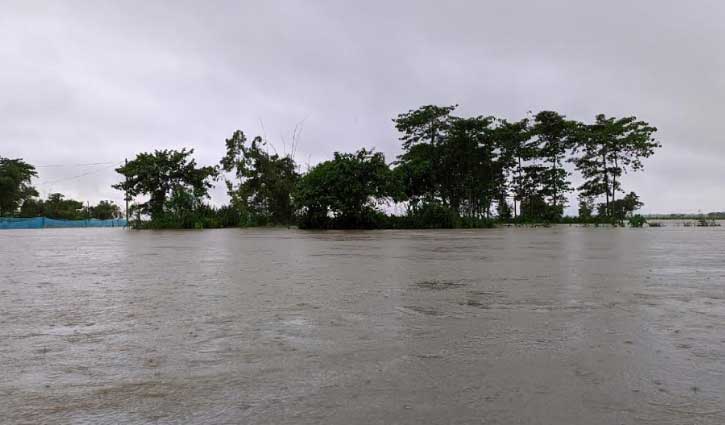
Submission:
{"label": "broad leafy tree beside the right end of the blue net fence", "polygon": [[113,187],[129,197],[148,196],[148,201],[137,203],[136,208],[138,213],[150,215],[152,221],[189,227],[189,213],[208,197],[210,180],[218,175],[215,167],[197,167],[189,158],[193,153],[193,149],[185,148],[140,153],[116,169],[125,181]]}

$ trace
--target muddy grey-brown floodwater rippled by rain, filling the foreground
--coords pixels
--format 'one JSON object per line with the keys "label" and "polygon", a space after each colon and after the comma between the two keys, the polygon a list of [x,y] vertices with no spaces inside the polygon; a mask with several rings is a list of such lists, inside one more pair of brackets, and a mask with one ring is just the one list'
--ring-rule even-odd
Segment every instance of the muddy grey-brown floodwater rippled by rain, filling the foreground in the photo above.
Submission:
{"label": "muddy grey-brown floodwater rippled by rain, filling the foreground", "polygon": [[722,424],[725,231],[0,232],[2,424]]}

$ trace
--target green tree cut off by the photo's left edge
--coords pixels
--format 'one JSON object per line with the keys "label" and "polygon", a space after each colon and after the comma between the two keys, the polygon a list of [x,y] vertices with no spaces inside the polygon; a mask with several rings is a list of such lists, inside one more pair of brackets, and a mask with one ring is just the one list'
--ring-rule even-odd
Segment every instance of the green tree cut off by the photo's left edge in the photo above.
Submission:
{"label": "green tree cut off by the photo's left edge", "polygon": [[0,217],[14,215],[20,206],[38,191],[31,186],[38,173],[22,159],[0,157]]}

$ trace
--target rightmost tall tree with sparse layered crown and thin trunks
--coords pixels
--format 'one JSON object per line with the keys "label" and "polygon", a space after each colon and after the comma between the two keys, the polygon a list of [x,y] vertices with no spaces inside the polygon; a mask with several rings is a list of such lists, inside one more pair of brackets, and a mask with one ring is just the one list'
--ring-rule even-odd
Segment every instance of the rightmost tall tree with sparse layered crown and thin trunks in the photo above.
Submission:
{"label": "rightmost tall tree with sparse layered crown and thin trunks", "polygon": [[576,135],[573,159],[584,177],[579,187],[582,196],[604,196],[604,216],[616,218],[612,203],[616,193],[622,192],[621,176],[644,168],[642,160],[654,154],[661,145],[652,137],[657,131],[636,117],[607,118],[597,115],[590,125],[580,125]]}

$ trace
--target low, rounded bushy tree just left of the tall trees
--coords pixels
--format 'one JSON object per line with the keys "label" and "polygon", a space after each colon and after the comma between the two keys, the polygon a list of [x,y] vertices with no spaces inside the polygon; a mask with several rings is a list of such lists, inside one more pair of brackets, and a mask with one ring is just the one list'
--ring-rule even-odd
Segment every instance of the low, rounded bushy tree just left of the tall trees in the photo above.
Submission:
{"label": "low, rounded bushy tree just left of the tall trees", "polygon": [[294,192],[300,225],[308,228],[376,227],[380,202],[393,197],[392,173],[380,152],[335,152],[302,176]]}

